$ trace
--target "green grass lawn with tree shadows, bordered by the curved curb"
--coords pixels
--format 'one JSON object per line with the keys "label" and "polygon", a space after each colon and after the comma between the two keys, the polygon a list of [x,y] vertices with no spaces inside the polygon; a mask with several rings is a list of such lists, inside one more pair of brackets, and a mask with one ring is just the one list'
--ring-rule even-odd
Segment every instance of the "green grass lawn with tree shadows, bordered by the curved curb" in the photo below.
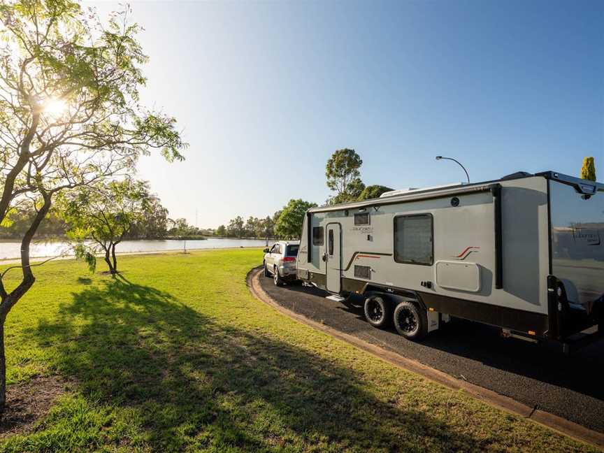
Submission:
{"label": "green grass lawn with tree shadows, bordered by the curved curb", "polygon": [[245,285],[259,263],[229,250],[120,257],[120,278],[36,268],[8,317],[8,381],[71,384],[0,451],[590,450],[280,315]]}

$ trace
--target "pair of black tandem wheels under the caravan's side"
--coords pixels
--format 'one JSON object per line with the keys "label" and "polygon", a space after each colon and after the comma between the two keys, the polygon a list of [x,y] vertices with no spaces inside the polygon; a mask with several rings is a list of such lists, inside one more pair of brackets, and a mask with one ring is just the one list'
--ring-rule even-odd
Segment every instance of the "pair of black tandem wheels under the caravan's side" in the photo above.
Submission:
{"label": "pair of black tandem wheels under the caravan's side", "polygon": [[428,314],[411,301],[402,301],[393,310],[393,303],[382,296],[365,300],[365,317],[374,327],[394,322],[396,331],[409,340],[421,340],[428,333]]}

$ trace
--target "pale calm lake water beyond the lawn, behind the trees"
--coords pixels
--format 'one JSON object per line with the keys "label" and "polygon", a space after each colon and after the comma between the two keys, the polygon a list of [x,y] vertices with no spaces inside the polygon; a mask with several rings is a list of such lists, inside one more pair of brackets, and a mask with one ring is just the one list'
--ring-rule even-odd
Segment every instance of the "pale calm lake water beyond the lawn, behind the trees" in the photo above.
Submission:
{"label": "pale calm lake water beyond the lawn, behind the trees", "polygon": [[[221,239],[208,238],[206,240],[187,240],[187,250],[229,248],[229,247],[264,247],[264,239]],[[272,244],[273,241],[269,240]],[[0,242],[0,259],[14,259],[20,257],[19,242]],[[124,240],[117,244],[115,251],[118,253],[131,252],[165,252],[168,250],[182,250],[185,247],[184,240]],[[69,251],[69,245],[62,241],[44,242],[36,241],[31,243],[29,254],[32,258],[55,257],[64,252],[73,254]]]}

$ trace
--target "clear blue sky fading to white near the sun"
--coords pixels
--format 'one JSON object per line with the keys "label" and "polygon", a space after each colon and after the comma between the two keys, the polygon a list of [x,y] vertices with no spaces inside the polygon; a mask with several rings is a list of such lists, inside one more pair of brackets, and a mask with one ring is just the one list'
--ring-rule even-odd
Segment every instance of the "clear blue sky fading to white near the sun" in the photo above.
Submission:
{"label": "clear blue sky fading to white near the sun", "polygon": [[199,227],[323,203],[339,148],[361,155],[368,185],[463,180],[437,154],[473,181],[578,175],[589,155],[604,179],[604,1],[131,6],[150,56],[143,100],[191,145],[140,175]]}

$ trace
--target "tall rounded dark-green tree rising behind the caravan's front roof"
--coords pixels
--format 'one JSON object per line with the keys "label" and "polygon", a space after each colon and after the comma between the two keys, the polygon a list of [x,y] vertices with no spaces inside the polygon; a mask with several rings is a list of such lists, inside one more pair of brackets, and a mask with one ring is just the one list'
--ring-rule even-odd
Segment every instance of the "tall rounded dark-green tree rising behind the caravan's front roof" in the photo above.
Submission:
{"label": "tall rounded dark-green tree rising behind the caravan's front roof", "polygon": [[337,150],[327,161],[325,176],[327,187],[336,192],[336,195],[328,200],[328,203],[345,203],[356,200],[365,185],[361,181],[359,168],[363,161],[354,150],[344,148]]}

